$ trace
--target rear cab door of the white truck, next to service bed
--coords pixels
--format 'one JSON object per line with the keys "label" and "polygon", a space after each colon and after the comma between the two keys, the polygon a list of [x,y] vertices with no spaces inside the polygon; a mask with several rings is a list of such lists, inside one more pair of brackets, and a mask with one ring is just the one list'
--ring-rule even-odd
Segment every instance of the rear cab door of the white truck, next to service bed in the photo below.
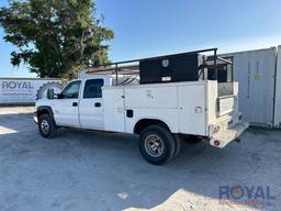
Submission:
{"label": "rear cab door of the white truck, next to service bed", "polygon": [[101,78],[88,79],[85,81],[83,92],[79,102],[80,124],[85,129],[103,129],[103,104]]}

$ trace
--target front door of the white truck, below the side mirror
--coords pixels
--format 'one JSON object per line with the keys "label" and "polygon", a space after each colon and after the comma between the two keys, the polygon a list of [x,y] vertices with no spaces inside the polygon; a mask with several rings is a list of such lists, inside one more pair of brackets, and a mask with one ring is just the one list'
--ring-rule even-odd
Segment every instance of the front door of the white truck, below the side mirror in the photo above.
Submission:
{"label": "front door of the white truck, below the side mirror", "polygon": [[81,80],[75,80],[54,99],[54,116],[58,125],[79,126],[78,119],[78,98]]}

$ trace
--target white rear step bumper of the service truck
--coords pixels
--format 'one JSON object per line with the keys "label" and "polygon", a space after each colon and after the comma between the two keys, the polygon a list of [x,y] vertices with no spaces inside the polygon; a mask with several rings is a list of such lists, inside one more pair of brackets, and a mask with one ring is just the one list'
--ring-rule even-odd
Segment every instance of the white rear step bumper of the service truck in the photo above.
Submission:
{"label": "white rear step bumper of the service truck", "polygon": [[210,144],[215,147],[223,148],[229,142],[237,140],[248,127],[248,122],[239,122],[231,127],[222,127],[218,132],[213,134],[210,140]]}

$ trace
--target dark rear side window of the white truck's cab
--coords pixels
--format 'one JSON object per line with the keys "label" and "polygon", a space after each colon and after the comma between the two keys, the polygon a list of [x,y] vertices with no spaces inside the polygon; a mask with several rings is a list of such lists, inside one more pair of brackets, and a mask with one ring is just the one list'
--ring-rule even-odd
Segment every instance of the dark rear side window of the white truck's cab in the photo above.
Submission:
{"label": "dark rear side window of the white truck's cab", "polygon": [[103,79],[89,79],[85,84],[83,98],[101,98]]}

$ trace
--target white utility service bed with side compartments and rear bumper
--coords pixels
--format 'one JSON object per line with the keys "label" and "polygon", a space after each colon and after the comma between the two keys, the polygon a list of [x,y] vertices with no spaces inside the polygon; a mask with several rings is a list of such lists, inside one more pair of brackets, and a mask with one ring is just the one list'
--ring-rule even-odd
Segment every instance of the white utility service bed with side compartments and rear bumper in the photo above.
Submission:
{"label": "white utility service bed with side compartments and rear bumper", "polygon": [[[215,80],[104,87],[102,92],[105,131],[134,133],[138,121],[157,119],[172,133],[207,136],[223,147],[247,127],[236,110],[237,97],[217,98]],[[220,133],[214,135],[217,126]]]}

